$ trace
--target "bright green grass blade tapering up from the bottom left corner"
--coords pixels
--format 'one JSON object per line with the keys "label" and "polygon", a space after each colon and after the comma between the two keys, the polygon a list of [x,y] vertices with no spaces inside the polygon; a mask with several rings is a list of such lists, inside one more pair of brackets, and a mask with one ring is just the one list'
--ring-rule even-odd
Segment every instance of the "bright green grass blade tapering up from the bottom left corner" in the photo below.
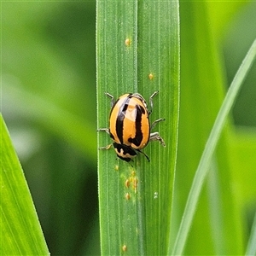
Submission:
{"label": "bright green grass blade tapering up from the bottom left corner", "polygon": [[49,255],[20,162],[1,122],[1,255]]}

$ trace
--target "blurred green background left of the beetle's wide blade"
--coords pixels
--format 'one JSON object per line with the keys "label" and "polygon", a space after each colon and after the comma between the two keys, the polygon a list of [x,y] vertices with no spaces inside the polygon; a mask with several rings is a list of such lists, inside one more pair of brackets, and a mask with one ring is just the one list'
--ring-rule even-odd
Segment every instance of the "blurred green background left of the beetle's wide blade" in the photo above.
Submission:
{"label": "blurred green background left of the beetle's wide blade", "polygon": [[3,118],[49,251],[99,254],[96,5],[6,2],[2,21]]}

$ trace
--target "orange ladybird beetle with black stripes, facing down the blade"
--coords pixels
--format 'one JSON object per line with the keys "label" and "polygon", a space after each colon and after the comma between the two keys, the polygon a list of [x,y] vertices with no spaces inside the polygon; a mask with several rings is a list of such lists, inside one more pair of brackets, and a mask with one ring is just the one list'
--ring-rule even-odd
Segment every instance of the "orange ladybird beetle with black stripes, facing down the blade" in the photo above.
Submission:
{"label": "orange ladybird beetle with black stripes, facing down the blade", "polygon": [[[126,93],[119,96],[115,102],[111,94],[105,93],[111,98],[111,111],[109,116],[109,128],[101,128],[98,131],[106,131],[113,139],[113,148],[121,160],[126,162],[137,156],[137,152],[144,154],[141,149],[145,148],[150,141],[159,141],[164,147],[166,144],[158,132],[150,131],[154,126],[165,119],[157,119],[151,125],[148,116],[152,113],[153,97],[158,90],[149,97],[150,110],[143,96],[138,93]],[[108,149],[111,144],[100,149]],[[144,156],[149,161],[148,155]]]}

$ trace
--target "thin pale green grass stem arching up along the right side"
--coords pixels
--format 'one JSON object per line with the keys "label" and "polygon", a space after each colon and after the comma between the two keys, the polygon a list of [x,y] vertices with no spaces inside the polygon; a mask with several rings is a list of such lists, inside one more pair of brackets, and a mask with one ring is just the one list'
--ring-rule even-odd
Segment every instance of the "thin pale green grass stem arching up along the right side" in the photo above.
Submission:
{"label": "thin pale green grass stem arching up along the right side", "polygon": [[218,112],[218,116],[215,120],[215,123],[212,127],[212,131],[207,140],[206,147],[201,156],[199,166],[195,172],[195,178],[192,184],[192,187],[189,192],[189,198],[185,207],[183,214],[183,220],[178,230],[177,239],[172,251],[173,255],[180,255],[183,253],[183,247],[186,242],[186,238],[189,233],[189,228],[192,223],[192,219],[195,214],[196,204],[201,193],[202,184],[207,176],[207,171],[209,169],[212,154],[218,143],[218,138],[220,137],[221,131],[223,130],[225,120],[230,113],[230,108],[232,108],[238,91],[241,88],[241,84],[245,79],[250,67],[252,66],[253,60],[256,55],[256,41],[253,42],[252,47],[249,49],[244,61],[241,63],[241,67],[236,73],[236,76],[230,85],[230,89],[227,92],[227,95],[224,98],[222,107]]}

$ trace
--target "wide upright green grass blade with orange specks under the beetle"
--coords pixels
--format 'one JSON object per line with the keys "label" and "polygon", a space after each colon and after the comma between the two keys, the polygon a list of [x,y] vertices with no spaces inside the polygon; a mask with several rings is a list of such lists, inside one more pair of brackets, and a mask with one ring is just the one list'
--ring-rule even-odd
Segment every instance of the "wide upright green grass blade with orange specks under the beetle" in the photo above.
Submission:
{"label": "wide upright green grass blade with orange specks under the beetle", "polygon": [[[113,149],[98,154],[102,254],[166,254],[177,150],[179,23],[177,1],[97,2],[98,127],[108,127],[110,101],[139,92],[148,101],[155,90],[150,121],[166,141],[149,143],[130,164]],[[98,135],[98,146],[111,143]]]}

